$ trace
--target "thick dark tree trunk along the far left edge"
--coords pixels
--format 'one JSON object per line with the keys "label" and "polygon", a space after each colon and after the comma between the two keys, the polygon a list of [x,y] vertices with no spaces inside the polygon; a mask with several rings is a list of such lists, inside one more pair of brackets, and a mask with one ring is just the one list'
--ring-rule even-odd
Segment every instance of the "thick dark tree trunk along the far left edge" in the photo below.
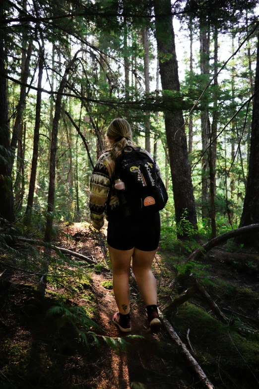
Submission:
{"label": "thick dark tree trunk along the far left edge", "polygon": [[[8,108],[5,75],[4,42],[2,31],[3,2],[0,3],[0,218],[14,222],[14,207],[10,161],[10,134],[8,129]],[[1,223],[1,222],[0,222]]]}

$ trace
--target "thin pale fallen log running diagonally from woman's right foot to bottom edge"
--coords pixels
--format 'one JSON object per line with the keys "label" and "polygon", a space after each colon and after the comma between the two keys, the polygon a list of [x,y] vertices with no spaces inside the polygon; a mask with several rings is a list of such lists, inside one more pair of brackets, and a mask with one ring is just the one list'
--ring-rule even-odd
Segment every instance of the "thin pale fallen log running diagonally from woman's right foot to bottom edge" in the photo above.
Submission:
{"label": "thin pale fallen log running diagonally from woman's right foot to bottom edge", "polygon": [[192,369],[194,370],[195,374],[197,375],[200,382],[203,384],[203,386],[207,389],[214,389],[214,386],[211,384],[209,379],[207,378],[206,374],[203,372],[201,367],[199,366],[198,362],[195,360],[195,358],[192,356],[186,345],[182,342],[180,337],[178,336],[177,332],[174,330],[172,324],[167,320],[166,317],[163,316],[162,312],[158,310],[158,313],[163,320],[163,323],[171,336],[171,338],[176,342],[176,344],[180,347],[180,350],[182,354],[184,355],[185,359],[189,364],[191,364]]}

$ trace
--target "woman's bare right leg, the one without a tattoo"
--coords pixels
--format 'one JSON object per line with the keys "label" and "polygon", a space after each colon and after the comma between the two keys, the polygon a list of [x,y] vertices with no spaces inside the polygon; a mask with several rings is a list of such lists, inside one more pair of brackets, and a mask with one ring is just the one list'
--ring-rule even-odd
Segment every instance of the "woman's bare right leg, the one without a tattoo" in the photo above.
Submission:
{"label": "woman's bare right leg, the one without a tattoo", "polygon": [[139,293],[146,306],[157,305],[156,279],[151,271],[155,254],[156,250],[141,251],[135,248],[132,255],[132,270]]}

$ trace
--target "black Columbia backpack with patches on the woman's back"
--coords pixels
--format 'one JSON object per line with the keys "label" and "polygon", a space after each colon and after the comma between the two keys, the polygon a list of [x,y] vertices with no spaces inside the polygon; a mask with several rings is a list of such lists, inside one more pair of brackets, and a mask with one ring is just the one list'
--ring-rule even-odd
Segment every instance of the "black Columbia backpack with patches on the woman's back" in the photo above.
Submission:
{"label": "black Columbia backpack with patches on the woman's back", "polygon": [[[117,179],[125,183],[125,189],[114,188]],[[150,215],[162,210],[168,200],[165,185],[158,175],[156,162],[146,153],[141,152],[140,147],[134,149],[132,146],[127,146],[123,149],[122,154],[116,159],[111,185],[120,203],[119,207],[116,207],[117,211],[115,208],[114,212],[120,212],[124,216]]]}

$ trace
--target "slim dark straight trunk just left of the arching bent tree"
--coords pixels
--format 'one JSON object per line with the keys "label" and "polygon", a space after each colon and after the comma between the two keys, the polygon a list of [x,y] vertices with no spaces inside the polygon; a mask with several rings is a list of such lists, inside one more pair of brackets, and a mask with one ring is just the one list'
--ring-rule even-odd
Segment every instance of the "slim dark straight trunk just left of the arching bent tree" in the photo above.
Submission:
{"label": "slim dark straight trunk just left of the arching bent tree", "polygon": [[[37,85],[39,89],[41,88],[41,84],[42,84],[43,65],[44,65],[44,59],[41,53],[40,61],[39,61],[39,76],[38,76],[38,85]],[[32,161],[31,161],[31,176],[30,176],[30,183],[29,183],[27,208],[25,212],[26,215],[31,214],[31,209],[33,206],[33,197],[34,197],[35,182],[36,182],[37,162],[38,162],[38,150],[39,150],[40,119],[41,119],[41,90],[38,90],[36,109],[35,109],[35,128],[34,128],[34,138],[33,138],[33,154],[32,154]],[[28,222],[30,222],[30,218],[28,218]]]}

